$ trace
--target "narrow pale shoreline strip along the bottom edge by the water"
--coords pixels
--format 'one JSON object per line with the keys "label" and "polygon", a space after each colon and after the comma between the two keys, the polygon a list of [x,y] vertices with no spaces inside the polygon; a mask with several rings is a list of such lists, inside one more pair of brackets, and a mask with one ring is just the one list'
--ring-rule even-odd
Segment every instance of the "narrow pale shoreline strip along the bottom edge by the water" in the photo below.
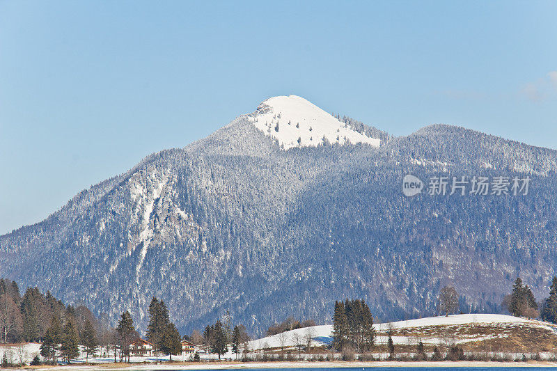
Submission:
{"label": "narrow pale shoreline strip along the bottom edge by the water", "polygon": [[201,362],[201,363],[99,363],[99,364],[71,364],[71,365],[38,365],[22,368],[0,368],[0,370],[65,370],[65,371],[95,371],[95,370],[241,370],[241,369],[278,369],[278,368],[557,368],[557,362],[526,361],[526,362],[496,362],[496,361],[272,361],[272,362]]}

